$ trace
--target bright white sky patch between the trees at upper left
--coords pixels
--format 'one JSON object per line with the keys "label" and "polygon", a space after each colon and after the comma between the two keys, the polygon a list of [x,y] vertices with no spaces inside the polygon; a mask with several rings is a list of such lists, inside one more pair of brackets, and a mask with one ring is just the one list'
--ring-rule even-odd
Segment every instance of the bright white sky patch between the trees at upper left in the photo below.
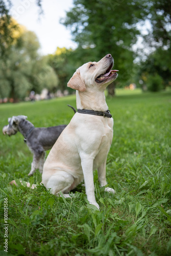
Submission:
{"label": "bright white sky patch between the trees at upper left", "polygon": [[42,0],[44,14],[39,15],[35,0],[11,0],[10,14],[28,30],[34,31],[40,42],[40,54],[52,54],[57,47],[76,48],[70,30],[59,23],[66,11],[73,7],[73,0]]}

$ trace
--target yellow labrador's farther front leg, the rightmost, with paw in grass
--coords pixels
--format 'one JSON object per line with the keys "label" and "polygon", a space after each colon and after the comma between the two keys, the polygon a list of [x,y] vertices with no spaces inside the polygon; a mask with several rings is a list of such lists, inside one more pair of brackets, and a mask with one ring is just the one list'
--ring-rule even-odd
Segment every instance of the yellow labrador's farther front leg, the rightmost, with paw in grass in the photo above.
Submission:
{"label": "yellow labrador's farther front leg, the rightmost, with paw in grass", "polygon": [[[98,172],[98,180],[99,180],[100,186],[103,187],[103,186],[107,185],[107,182],[106,182],[106,160],[100,165],[100,167],[98,167],[97,172]],[[105,187],[104,190],[115,194],[115,190],[111,187]]]}

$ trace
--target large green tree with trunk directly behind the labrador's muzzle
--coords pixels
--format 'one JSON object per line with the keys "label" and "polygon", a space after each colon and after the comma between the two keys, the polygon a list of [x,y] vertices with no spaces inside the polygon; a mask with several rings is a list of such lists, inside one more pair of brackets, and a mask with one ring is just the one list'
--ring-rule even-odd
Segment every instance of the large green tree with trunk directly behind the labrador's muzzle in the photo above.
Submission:
{"label": "large green tree with trunk directly behind the labrador's muzzle", "polygon": [[133,5],[136,0],[128,0],[124,4],[122,2],[75,0],[74,8],[61,21],[71,29],[73,40],[78,42],[78,49],[89,50],[93,60],[99,60],[107,53],[114,56],[115,69],[120,70],[119,79],[115,82],[118,85],[133,79],[132,46],[140,33],[136,23],[144,15],[142,6]]}

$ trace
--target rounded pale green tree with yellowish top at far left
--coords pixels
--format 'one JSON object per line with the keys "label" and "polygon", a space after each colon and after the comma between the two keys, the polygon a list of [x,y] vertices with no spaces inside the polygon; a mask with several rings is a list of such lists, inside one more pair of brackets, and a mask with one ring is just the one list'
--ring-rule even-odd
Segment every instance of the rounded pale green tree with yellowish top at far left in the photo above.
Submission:
{"label": "rounded pale green tree with yellowish top at far left", "polygon": [[48,65],[47,58],[39,57],[39,42],[35,33],[25,30],[13,42],[0,60],[0,97],[14,101],[24,99],[30,91],[39,93],[43,88],[57,88],[58,78]]}

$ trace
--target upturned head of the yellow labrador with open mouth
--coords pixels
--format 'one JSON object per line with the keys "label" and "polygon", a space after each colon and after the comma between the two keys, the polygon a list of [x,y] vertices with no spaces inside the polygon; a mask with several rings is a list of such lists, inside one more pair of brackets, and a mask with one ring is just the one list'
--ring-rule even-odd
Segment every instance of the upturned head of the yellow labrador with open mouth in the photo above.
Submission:
{"label": "upturned head of the yellow labrador with open mouth", "polygon": [[69,80],[68,87],[80,92],[92,86],[105,89],[118,76],[118,70],[112,70],[113,65],[111,54],[107,54],[98,62],[88,62],[77,69]]}

